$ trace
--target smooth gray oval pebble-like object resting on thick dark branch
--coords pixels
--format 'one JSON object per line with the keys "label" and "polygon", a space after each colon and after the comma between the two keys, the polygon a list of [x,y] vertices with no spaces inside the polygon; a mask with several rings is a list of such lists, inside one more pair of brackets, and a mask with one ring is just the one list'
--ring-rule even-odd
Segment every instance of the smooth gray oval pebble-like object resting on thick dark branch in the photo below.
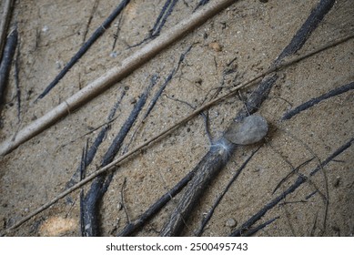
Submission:
{"label": "smooth gray oval pebble-like object resting on thick dark branch", "polygon": [[268,123],[264,117],[251,115],[230,125],[224,138],[238,145],[254,144],[268,133]]}

